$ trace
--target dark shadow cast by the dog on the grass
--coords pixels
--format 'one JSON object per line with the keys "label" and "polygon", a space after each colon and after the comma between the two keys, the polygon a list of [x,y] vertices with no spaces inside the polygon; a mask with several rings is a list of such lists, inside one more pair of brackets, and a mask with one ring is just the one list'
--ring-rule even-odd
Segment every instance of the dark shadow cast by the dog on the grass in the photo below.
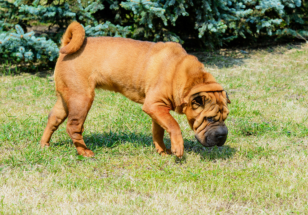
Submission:
{"label": "dark shadow cast by the dog on the grass", "polygon": [[[166,135],[165,135],[166,136]],[[103,133],[90,133],[83,135],[83,139],[87,145],[87,147],[91,150],[95,148],[108,148],[113,149],[118,145],[125,144],[127,142],[131,143],[132,146],[140,147],[152,147],[154,149],[154,145],[152,142],[152,135],[147,135],[145,133],[135,133],[135,132],[123,132],[123,131],[109,131]],[[170,138],[164,137],[164,143],[167,148],[171,148]],[[67,138],[64,142],[57,141],[53,145],[67,145],[72,144],[70,138]],[[116,153],[115,150],[114,153]],[[204,147],[196,140],[186,139],[184,138],[184,151],[193,152],[199,154],[202,161],[212,161],[216,162],[218,159],[227,160],[232,158],[234,153],[236,153],[237,149],[229,146],[223,145],[221,147]],[[185,162],[187,155],[185,155],[181,159],[181,161]],[[176,161],[179,159],[176,158]]]}

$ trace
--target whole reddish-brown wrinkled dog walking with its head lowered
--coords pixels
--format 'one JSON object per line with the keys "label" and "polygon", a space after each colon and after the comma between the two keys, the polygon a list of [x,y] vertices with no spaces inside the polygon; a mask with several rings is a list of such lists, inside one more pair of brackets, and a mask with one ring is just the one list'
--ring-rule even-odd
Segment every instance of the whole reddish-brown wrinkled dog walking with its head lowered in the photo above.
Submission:
{"label": "whole reddish-brown wrinkled dog walking with its head lowered", "polygon": [[[224,89],[205,71],[196,57],[175,42],[144,42],[128,38],[88,37],[78,22],[71,23],[62,38],[55,66],[58,100],[48,115],[41,147],[67,118],[67,133],[79,155],[94,156],[83,141],[83,123],[94,99],[94,89],[119,92],[152,118],[156,151],[184,152],[179,124],[169,111],[184,113],[204,146],[221,146],[228,129],[225,119],[230,103]],[[163,141],[170,134],[171,150]]]}

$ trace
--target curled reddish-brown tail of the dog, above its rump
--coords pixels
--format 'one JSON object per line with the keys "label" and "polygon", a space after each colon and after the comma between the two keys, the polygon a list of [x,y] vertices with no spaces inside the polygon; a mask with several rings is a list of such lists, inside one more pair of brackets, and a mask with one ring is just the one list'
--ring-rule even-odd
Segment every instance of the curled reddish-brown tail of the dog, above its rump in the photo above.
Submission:
{"label": "curled reddish-brown tail of the dog, above its rump", "polygon": [[83,44],[85,31],[79,22],[72,22],[61,38],[62,48],[60,53],[72,54],[80,49]]}

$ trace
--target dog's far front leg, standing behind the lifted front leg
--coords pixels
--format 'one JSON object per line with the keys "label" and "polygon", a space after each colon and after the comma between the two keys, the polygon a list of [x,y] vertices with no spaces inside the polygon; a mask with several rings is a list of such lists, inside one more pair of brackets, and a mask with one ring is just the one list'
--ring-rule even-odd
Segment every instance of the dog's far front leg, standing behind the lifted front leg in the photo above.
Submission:
{"label": "dog's far front leg, standing behind the lifted front leg", "polygon": [[156,152],[160,155],[172,154],[171,150],[167,149],[164,144],[164,132],[165,129],[163,129],[152,119],[152,136]]}

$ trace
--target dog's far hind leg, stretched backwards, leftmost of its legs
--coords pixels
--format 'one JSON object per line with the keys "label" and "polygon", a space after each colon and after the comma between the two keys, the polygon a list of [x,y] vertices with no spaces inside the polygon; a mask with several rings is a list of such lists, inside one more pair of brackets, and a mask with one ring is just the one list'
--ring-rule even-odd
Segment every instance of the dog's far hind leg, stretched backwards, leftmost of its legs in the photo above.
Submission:
{"label": "dog's far hind leg, stretched backwards, leftmost of its legs", "polygon": [[48,121],[41,139],[41,148],[49,146],[51,135],[58,129],[59,125],[67,118],[67,106],[62,96],[58,95],[55,106],[48,115]]}

